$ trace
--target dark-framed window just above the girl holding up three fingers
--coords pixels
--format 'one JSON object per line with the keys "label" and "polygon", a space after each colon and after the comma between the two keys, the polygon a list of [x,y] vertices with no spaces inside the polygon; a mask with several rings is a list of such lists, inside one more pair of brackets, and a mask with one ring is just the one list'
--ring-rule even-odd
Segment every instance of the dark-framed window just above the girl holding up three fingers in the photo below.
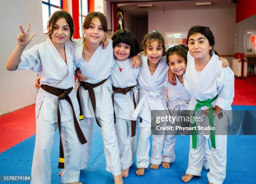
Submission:
{"label": "dark-framed window just above the girl holding up three fingers", "polygon": [[62,0],[42,0],[43,27],[44,33],[47,33],[47,22],[51,15],[62,9]]}

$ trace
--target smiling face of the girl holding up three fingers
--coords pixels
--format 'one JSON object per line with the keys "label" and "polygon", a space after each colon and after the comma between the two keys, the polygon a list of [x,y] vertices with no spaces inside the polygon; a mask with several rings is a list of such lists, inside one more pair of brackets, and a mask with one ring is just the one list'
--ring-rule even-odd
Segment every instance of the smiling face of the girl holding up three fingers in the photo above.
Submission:
{"label": "smiling face of the girl holding up three fingers", "polygon": [[53,28],[53,33],[51,33],[51,41],[56,45],[64,45],[66,41],[70,38],[70,28],[65,18],[59,18]]}

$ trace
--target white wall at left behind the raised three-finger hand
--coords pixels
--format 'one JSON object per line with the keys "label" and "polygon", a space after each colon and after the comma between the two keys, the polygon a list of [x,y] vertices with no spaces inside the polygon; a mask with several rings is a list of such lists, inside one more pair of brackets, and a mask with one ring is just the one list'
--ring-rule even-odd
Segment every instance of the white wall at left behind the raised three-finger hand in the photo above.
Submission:
{"label": "white wall at left behind the raised three-finger hand", "polygon": [[0,6],[0,115],[31,105],[36,101],[37,90],[33,87],[37,74],[32,71],[6,70],[6,61],[17,44],[19,24],[26,30],[31,23],[30,33],[36,33],[26,49],[45,41],[42,21],[41,0],[1,0]]}

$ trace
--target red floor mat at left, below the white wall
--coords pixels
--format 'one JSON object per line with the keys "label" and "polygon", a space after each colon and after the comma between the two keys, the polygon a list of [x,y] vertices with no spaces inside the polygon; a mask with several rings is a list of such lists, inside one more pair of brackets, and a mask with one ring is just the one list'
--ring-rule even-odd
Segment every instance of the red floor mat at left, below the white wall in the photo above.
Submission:
{"label": "red floor mat at left, below the white wall", "polygon": [[0,116],[0,153],[35,133],[35,105]]}

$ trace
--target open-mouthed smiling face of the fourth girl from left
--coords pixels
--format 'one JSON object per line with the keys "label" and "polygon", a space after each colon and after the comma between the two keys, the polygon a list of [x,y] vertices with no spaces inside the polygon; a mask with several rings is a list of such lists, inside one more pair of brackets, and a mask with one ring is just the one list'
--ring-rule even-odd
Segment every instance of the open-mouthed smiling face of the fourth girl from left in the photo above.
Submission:
{"label": "open-mouthed smiling face of the fourth girl from left", "polygon": [[152,65],[157,65],[163,56],[164,48],[159,41],[153,40],[146,46],[146,54],[148,56],[148,62]]}

